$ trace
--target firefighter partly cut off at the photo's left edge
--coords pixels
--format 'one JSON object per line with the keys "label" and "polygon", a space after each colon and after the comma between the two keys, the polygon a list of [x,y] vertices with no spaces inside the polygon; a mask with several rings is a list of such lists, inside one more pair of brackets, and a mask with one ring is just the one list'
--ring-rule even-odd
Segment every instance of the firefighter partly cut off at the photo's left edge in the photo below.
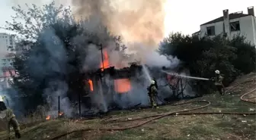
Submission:
{"label": "firefighter partly cut off at the photo's left edge", "polygon": [[19,126],[18,120],[16,120],[13,111],[10,108],[7,108],[5,106],[4,98],[5,98],[5,96],[2,97],[0,95],[0,118],[3,119],[3,120],[6,120],[6,122],[7,122],[7,125],[8,125],[8,138],[11,139],[10,138],[11,126],[14,129],[15,137],[16,138],[21,138],[20,126]]}

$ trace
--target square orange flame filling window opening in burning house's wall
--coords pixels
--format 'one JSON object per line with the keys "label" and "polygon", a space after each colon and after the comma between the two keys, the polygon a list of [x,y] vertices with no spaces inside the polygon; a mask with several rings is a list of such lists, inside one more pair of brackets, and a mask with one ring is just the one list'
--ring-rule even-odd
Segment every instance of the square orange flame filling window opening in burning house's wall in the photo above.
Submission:
{"label": "square orange flame filling window opening in burning house's wall", "polygon": [[131,89],[130,79],[115,79],[114,89],[118,93],[129,92]]}

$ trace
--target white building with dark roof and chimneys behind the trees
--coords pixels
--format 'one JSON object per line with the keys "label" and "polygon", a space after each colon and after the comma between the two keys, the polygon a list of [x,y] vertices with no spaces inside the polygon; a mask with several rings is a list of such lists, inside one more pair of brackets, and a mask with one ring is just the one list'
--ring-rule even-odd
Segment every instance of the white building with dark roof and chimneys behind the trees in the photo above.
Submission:
{"label": "white building with dark roof and chimneys behind the trees", "polygon": [[233,36],[245,36],[251,45],[256,45],[256,17],[254,7],[248,8],[248,14],[235,12],[229,14],[229,10],[223,11],[223,16],[200,25],[200,32],[194,35],[218,36],[223,35],[232,39]]}

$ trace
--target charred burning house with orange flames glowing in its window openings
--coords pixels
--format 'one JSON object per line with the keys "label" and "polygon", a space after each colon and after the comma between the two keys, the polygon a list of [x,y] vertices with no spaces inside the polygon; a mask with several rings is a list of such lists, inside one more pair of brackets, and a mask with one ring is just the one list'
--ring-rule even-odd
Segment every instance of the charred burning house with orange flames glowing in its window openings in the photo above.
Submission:
{"label": "charred burning house with orange flames glowing in its window openings", "polygon": [[136,64],[131,64],[130,67],[123,69],[107,67],[104,70],[99,69],[95,73],[88,73],[88,79],[85,82],[88,93],[83,96],[82,100],[84,101],[82,102],[90,103],[94,96],[101,95],[110,101],[108,104],[115,104],[114,96],[121,97],[132,92],[132,82],[140,80],[138,75],[142,75],[142,67]]}

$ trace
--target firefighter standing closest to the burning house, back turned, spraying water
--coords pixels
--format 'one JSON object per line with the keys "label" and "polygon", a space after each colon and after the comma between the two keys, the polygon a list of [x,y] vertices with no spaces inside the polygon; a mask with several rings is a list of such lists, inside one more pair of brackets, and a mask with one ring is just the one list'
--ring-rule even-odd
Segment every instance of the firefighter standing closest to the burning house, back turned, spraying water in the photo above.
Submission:
{"label": "firefighter standing closest to the burning house, back turned, spraying water", "polygon": [[156,88],[156,82],[155,80],[151,81],[150,86],[148,87],[148,94],[149,94],[149,100],[152,108],[158,108],[156,97],[158,94],[157,88]]}

